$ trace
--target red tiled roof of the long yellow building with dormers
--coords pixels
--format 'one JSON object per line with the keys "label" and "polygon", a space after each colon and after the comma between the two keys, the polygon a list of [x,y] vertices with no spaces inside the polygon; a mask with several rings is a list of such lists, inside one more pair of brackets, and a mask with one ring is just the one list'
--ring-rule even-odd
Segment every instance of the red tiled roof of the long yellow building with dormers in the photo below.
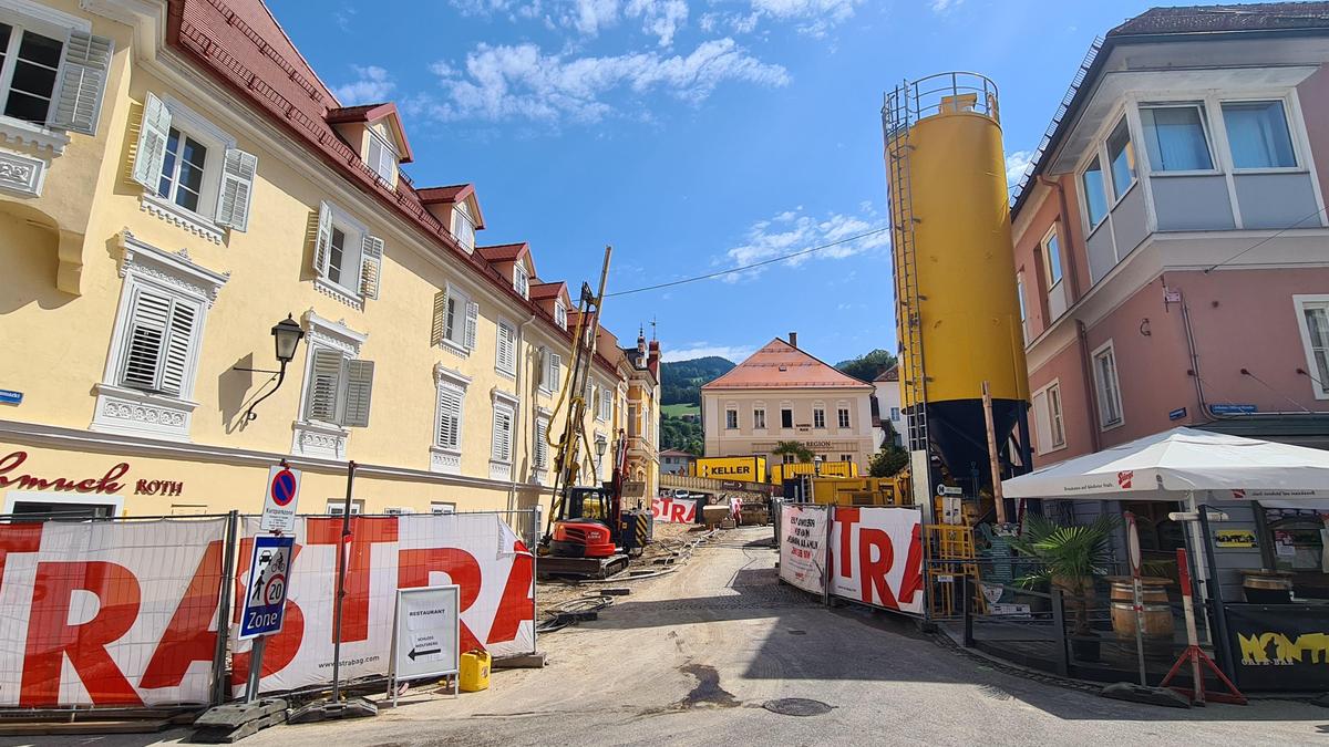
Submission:
{"label": "red tiled roof of the long yellow building with dormers", "polygon": [[[509,294],[513,303],[533,310],[553,334],[570,339],[570,332],[561,330],[538,304],[517,294],[512,278],[504,278],[482,257],[462,249],[407,179],[397,179],[393,189],[338,136],[327,114],[343,108],[262,0],[169,0],[166,21],[169,47],[290,130],[354,186],[437,241],[440,253],[451,251],[462,263],[469,263],[494,288]],[[478,215],[476,218],[478,221]],[[484,227],[480,222],[476,226]],[[615,364],[602,356],[595,359],[606,370],[615,370]]]}

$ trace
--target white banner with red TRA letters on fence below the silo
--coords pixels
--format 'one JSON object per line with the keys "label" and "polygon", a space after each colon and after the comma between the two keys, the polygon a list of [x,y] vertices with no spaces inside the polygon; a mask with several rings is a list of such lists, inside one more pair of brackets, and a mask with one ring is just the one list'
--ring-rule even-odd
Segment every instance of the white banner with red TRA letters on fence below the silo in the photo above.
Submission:
{"label": "white banner with red TRA letters on fence below the silo", "polygon": [[888,610],[922,614],[921,524],[918,509],[836,506],[831,528],[831,593]]}

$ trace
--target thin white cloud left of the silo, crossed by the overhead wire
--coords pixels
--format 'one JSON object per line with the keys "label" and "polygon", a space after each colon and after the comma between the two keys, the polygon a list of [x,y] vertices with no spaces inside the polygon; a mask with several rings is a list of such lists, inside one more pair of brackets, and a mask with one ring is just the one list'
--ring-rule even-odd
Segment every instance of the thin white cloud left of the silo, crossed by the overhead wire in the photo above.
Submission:
{"label": "thin white cloud left of the silo, crossed by the overhead wire", "polygon": [[[795,210],[784,210],[769,219],[752,223],[747,231],[746,243],[724,253],[723,259],[716,261],[716,265],[744,267],[831,243],[835,243],[835,246],[791,257],[780,263],[797,267],[809,259],[844,259],[890,246],[890,231],[881,230],[885,227],[886,221],[878,219],[874,213],[860,211],[859,215],[832,213],[819,219],[805,214],[803,206],[799,206]],[[880,233],[872,235],[852,238],[878,230]],[[735,271],[723,275],[720,279],[727,283],[736,283],[743,279],[755,278],[763,268],[756,267]]]}

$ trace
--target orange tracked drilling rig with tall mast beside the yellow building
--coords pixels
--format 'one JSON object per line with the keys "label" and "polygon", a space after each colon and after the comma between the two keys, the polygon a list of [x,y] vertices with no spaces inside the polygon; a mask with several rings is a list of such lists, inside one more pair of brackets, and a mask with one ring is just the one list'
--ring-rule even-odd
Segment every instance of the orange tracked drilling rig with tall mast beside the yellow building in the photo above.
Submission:
{"label": "orange tracked drilling rig with tall mast beside the yellow building", "polygon": [[[633,556],[639,556],[650,541],[651,514],[649,509],[623,510],[623,475],[626,473],[627,439],[618,433],[614,444],[614,471],[607,482],[578,485],[582,472],[582,453],[590,455],[586,436],[586,381],[595,356],[595,336],[599,328],[601,302],[609,275],[611,249],[605,247],[605,266],[599,276],[599,292],[582,284],[573,334],[573,360],[560,393],[554,413],[563,407],[563,433],[554,440],[545,437],[554,449],[553,501],[549,524],[540,541],[541,576],[570,576],[605,578],[627,568]],[[585,452],[582,448],[585,447]],[[589,469],[594,479],[594,468]]]}

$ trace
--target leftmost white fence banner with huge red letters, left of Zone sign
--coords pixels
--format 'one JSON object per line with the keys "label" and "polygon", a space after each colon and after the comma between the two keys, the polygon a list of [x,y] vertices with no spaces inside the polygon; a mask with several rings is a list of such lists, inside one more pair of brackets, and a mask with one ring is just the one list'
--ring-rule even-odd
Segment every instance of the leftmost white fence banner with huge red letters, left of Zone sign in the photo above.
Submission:
{"label": "leftmost white fence banner with huge red letters, left of Zone sign", "polygon": [[206,703],[226,520],[0,524],[0,704]]}

